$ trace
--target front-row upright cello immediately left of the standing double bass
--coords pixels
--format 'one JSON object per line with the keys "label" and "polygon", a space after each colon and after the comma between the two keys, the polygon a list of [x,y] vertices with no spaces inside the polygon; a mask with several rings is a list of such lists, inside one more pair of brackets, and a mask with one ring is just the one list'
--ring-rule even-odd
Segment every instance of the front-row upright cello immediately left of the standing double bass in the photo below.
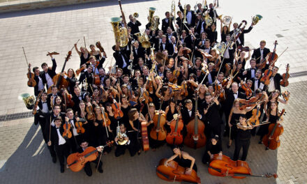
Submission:
{"label": "front-row upright cello immediately left of the standing double bass", "polygon": [[[179,145],[184,141],[184,137],[181,135],[181,130],[184,128],[184,121],[182,121],[180,115],[175,114],[176,117],[170,122],[170,133],[166,136],[167,144]],[[174,116],[175,116],[174,115]]]}

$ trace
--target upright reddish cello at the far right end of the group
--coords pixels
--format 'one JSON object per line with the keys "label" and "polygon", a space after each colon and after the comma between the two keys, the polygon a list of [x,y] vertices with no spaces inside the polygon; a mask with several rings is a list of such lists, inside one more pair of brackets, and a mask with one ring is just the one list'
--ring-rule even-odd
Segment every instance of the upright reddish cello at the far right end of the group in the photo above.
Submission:
{"label": "upright reddish cello at the far right end of the group", "polygon": [[[278,116],[278,121],[280,120],[280,117],[285,114],[285,109],[283,109],[280,112],[280,115]],[[264,135],[262,141],[267,148],[271,150],[276,150],[280,146],[280,139],[279,136],[283,134],[283,125],[280,125],[280,123],[271,123],[269,125],[269,133],[267,135]]]}

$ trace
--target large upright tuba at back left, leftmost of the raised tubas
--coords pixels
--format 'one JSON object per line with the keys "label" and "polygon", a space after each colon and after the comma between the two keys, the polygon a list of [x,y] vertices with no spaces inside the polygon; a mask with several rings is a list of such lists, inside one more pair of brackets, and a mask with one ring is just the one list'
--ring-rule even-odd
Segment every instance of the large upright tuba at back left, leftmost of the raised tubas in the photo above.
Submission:
{"label": "large upright tuba at back left, leftmost of the raised tubas", "polygon": [[119,28],[119,22],[121,22],[121,18],[119,17],[111,18],[115,43],[119,43],[119,47],[126,47],[126,45],[128,45],[129,42],[128,31],[126,27]]}

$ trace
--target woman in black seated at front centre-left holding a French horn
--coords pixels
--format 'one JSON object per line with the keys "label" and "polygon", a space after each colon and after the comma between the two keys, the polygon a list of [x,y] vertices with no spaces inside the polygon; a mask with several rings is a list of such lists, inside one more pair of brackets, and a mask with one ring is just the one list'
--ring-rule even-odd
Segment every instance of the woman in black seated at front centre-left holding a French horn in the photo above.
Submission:
{"label": "woman in black seated at front centre-left holding a French horn", "polygon": [[129,139],[129,137],[131,135],[127,135],[125,125],[120,124],[119,128],[120,128],[121,134],[126,135],[125,137],[123,137],[123,139],[126,140],[127,142],[126,142],[126,144],[120,145],[119,144],[119,137],[115,137],[114,141],[117,144],[117,148],[115,150],[115,156],[119,157],[120,155],[125,154],[126,148],[128,148],[128,151],[129,151],[131,157],[133,157],[135,155],[135,153],[140,155],[140,153],[141,153],[140,144],[138,144],[137,141],[132,141],[132,140]]}

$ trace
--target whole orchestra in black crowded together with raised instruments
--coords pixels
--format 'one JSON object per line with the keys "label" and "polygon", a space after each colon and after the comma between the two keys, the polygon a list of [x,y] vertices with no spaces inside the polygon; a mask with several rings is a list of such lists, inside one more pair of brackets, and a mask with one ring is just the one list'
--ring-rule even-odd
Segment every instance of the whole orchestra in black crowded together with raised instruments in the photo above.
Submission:
{"label": "whole orchestra in black crowded together with raised instruments", "polygon": [[244,34],[253,33],[261,16],[245,29],[246,21],[232,24],[230,17],[218,16],[216,4],[198,3],[194,9],[173,1],[159,29],[155,8],[149,8],[144,33],[138,14],[129,15],[126,22],[121,10],[121,17],[111,22],[114,65],[106,61],[111,56],[103,43],[88,50],[84,39],[84,45],[73,47],[80,56],[79,68],[65,68],[71,50],[61,71],[57,63],[64,61],[55,60],[57,52],[47,54],[51,66],[29,66],[28,77],[34,79],[29,86],[37,98],[34,123],[39,123],[61,173],[77,162],[68,163],[70,153],[82,154],[91,146],[98,152],[82,155],[87,160],[96,154],[84,166],[88,176],[91,162],[103,172],[100,155],[112,149],[119,157],[126,149],[134,156],[149,147],[158,151],[171,146],[174,155],[163,165],[176,161],[187,175],[197,171],[197,160],[181,151],[185,146],[204,149],[203,164],[223,155],[223,139],[227,148],[234,146],[233,155],[228,155],[234,161],[246,160],[255,135],[260,136],[259,144],[266,140],[263,150],[272,149],[272,136],[283,121],[278,105],[287,104],[290,97],[280,88],[288,85],[289,67],[284,75],[278,73],[276,45],[271,51],[265,40],[259,40],[257,49],[244,47]]}

